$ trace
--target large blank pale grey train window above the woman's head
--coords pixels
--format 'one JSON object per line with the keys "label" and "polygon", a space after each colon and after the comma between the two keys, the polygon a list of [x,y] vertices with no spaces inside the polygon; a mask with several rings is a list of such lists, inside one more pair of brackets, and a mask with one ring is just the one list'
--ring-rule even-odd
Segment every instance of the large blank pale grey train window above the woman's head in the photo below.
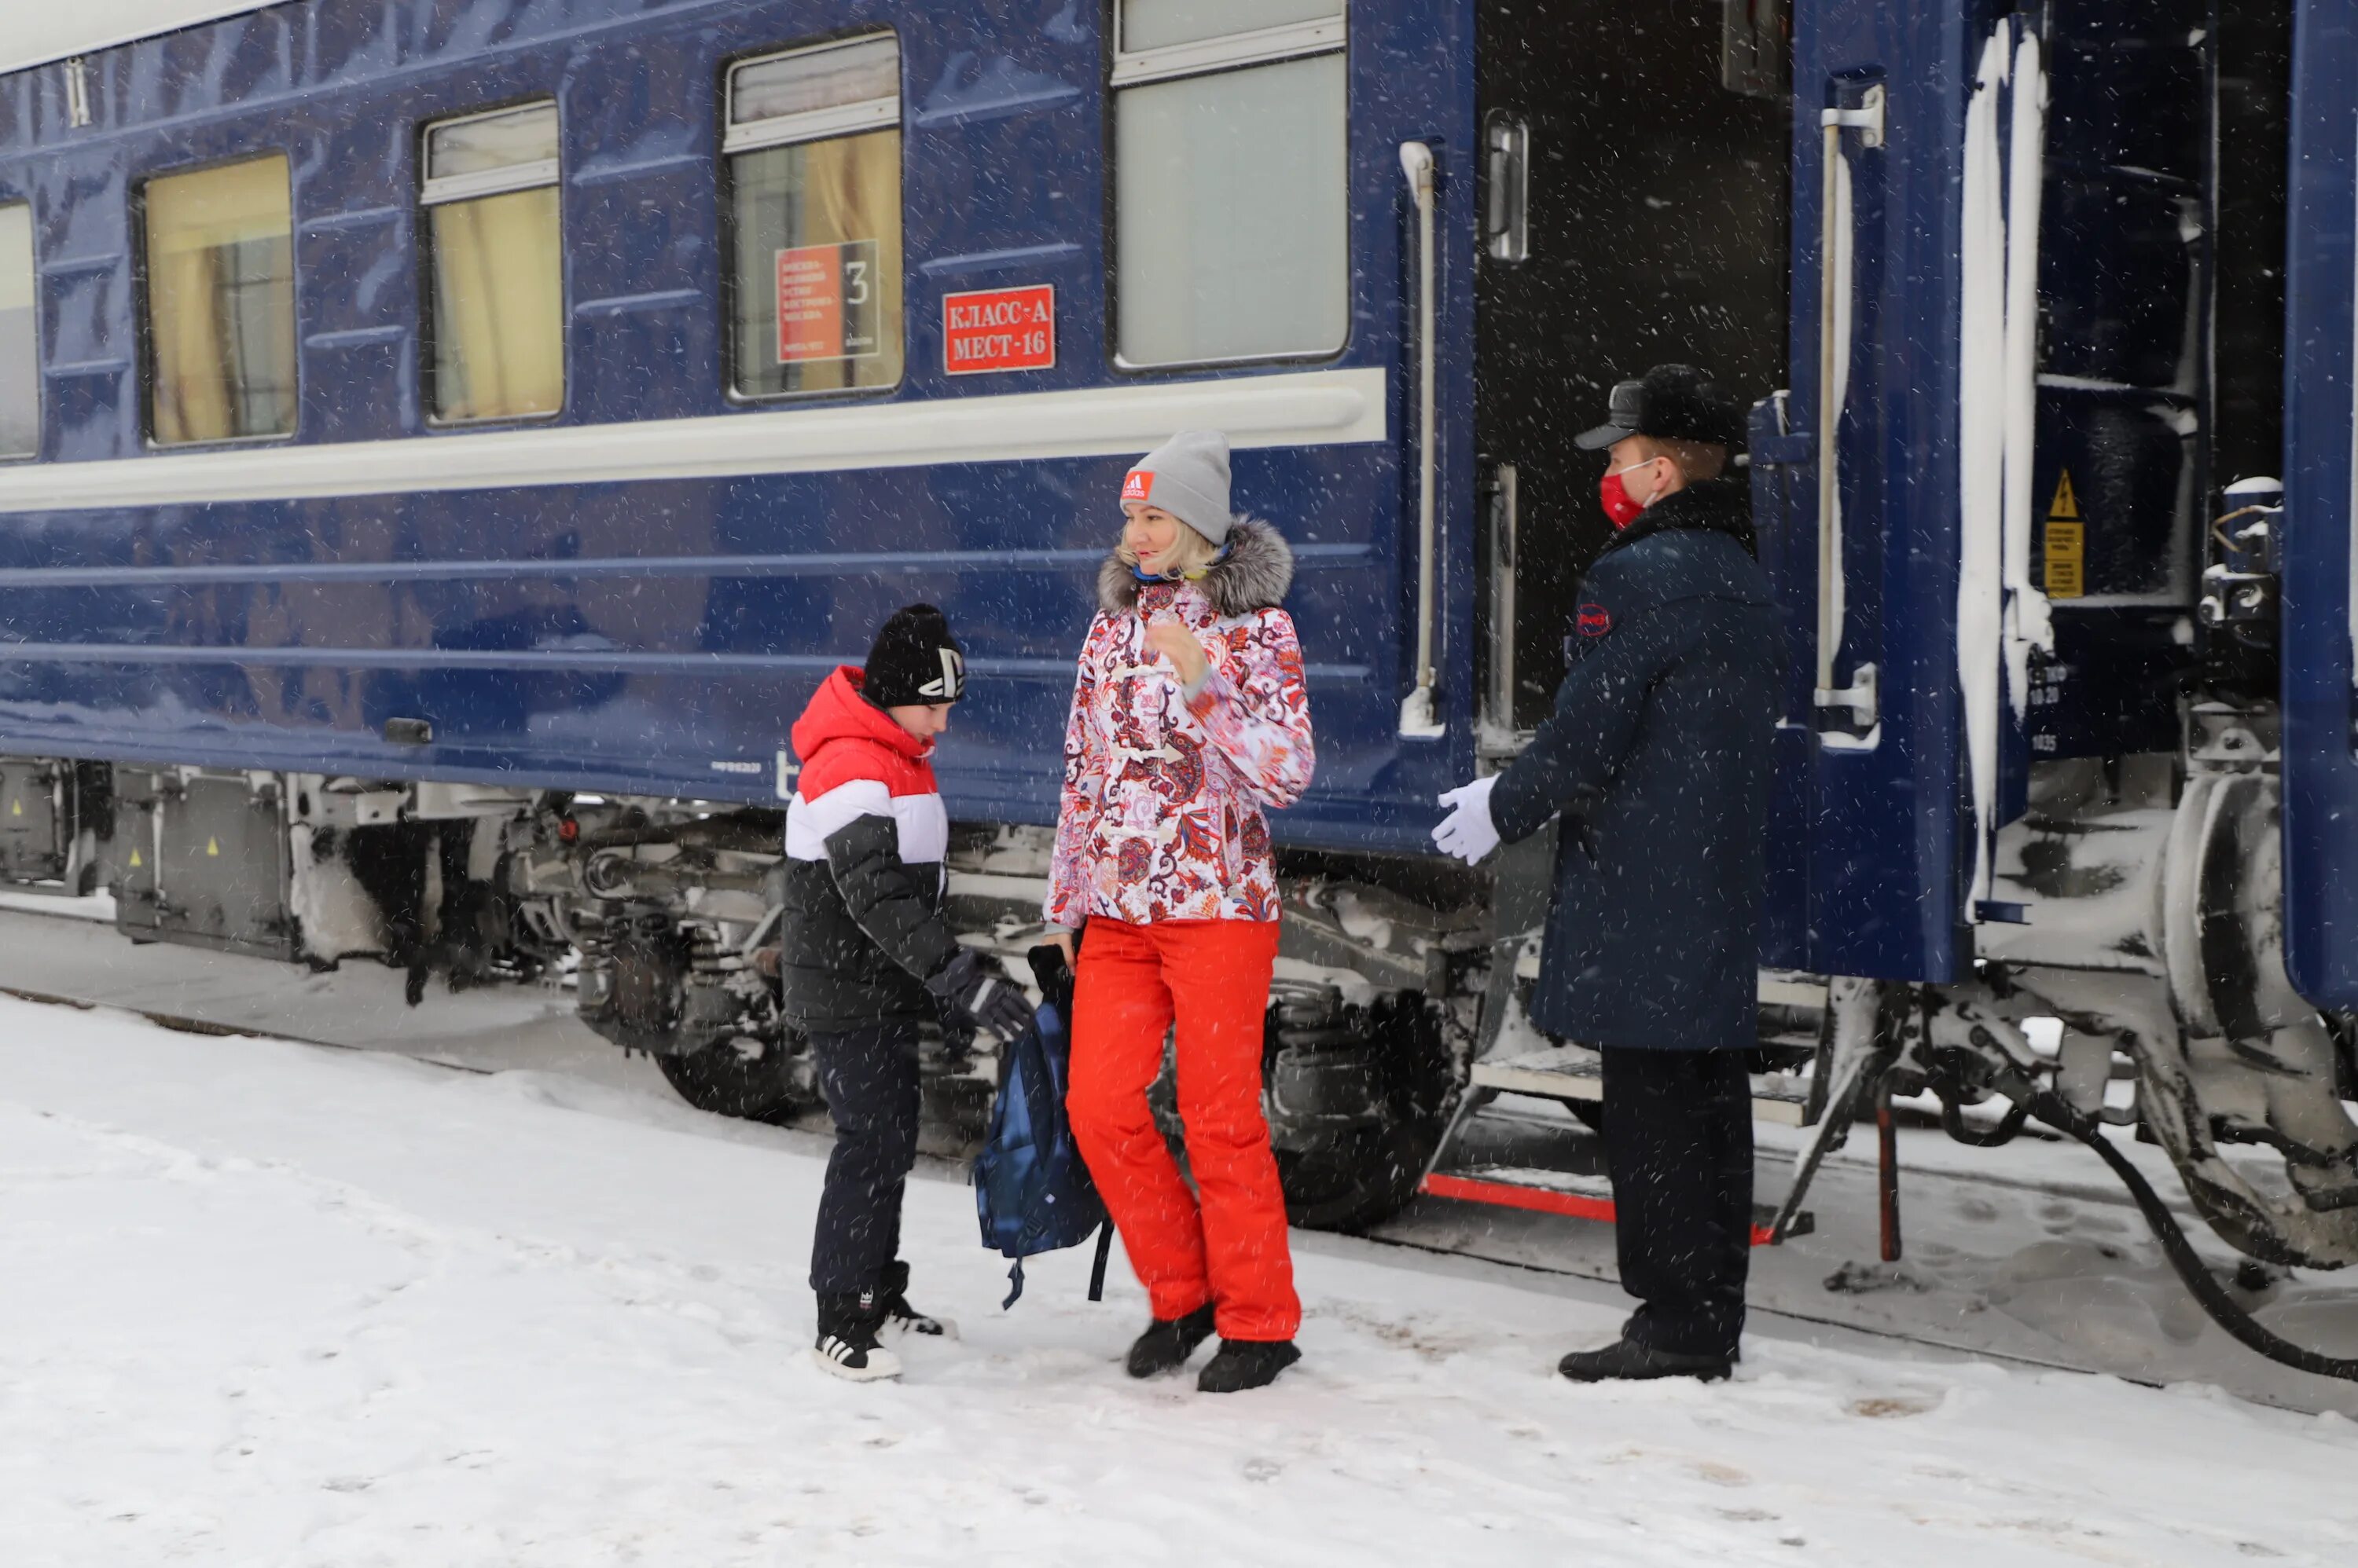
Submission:
{"label": "large blank pale grey train window above the woman's head", "polygon": [[1344,0],[1120,0],[1125,365],[1304,358],[1351,330]]}

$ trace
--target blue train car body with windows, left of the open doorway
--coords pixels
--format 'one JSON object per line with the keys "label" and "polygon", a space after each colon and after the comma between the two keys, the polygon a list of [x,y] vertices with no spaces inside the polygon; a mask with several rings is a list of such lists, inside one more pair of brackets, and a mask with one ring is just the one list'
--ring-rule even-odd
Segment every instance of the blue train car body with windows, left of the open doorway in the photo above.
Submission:
{"label": "blue train car body with windows, left of the open doorway", "polygon": [[[1464,724],[1398,733],[1417,443],[1443,502],[1471,443],[1462,266],[1429,344],[1460,413],[1417,429],[1396,151],[1471,139],[1445,19],[1144,7],[1122,47],[1016,0],[212,9],[248,14],[7,83],[40,297],[12,750],[776,802],[816,679],[934,599],[979,677],[950,797],[1042,823],[1122,462],[1219,424],[1302,549],[1325,766],[1290,837],[1412,849],[1471,764]],[[1005,299],[1042,344],[969,358]]]}

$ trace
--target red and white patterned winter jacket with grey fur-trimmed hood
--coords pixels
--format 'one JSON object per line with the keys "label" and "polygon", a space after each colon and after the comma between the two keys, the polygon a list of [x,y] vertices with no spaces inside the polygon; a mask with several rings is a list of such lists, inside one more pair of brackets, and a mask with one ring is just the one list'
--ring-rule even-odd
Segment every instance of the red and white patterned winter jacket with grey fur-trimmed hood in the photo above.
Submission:
{"label": "red and white patterned winter jacket with grey fur-trimmed hood", "polygon": [[[1099,571],[1063,738],[1054,924],[1278,917],[1262,806],[1295,804],[1316,766],[1302,641],[1278,608],[1295,554],[1250,519],[1229,542],[1191,582],[1139,582],[1111,556]],[[1212,658],[1193,698],[1146,646],[1165,613]]]}

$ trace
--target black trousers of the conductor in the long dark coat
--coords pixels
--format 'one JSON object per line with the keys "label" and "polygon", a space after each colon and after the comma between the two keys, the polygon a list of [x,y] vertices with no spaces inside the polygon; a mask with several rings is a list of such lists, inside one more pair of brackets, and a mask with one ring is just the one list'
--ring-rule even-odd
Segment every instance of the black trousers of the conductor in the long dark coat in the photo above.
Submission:
{"label": "black trousers of the conductor in the long dark coat", "polygon": [[1743,1052],[1603,1049],[1622,1330],[1674,1356],[1735,1356],[1752,1266],[1752,1078]]}

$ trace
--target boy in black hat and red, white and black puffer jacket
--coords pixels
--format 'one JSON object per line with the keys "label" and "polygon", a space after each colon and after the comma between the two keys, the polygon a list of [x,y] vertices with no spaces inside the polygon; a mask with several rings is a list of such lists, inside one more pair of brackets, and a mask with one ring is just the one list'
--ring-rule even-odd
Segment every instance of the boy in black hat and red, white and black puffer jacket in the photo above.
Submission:
{"label": "boy in black hat and red, white and black puffer jacket", "polygon": [[795,719],[778,979],[835,1113],[811,1238],[811,1356],[854,1382],[901,1375],[882,1330],[948,1332],[908,1304],[896,1257],[917,1160],[920,1028],[950,1007],[1012,1040],[1033,1019],[997,960],[960,948],[941,917],[950,818],[929,757],[964,686],[950,622],[913,604],[877,632],[865,670],[835,670]]}

